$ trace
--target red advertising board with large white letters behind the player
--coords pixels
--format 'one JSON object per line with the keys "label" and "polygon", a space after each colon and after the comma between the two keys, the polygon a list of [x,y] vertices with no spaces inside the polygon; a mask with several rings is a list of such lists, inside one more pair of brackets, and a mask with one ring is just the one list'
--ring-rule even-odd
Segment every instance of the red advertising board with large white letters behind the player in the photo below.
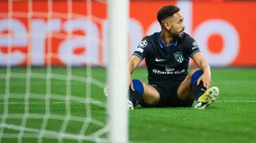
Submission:
{"label": "red advertising board with large white letters behind the player", "polygon": [[[72,66],[107,65],[107,1],[9,2],[0,2],[0,66],[8,57],[11,66],[67,66],[69,54]],[[180,7],[185,31],[211,66],[256,65],[256,2],[242,0],[131,0],[129,56],[144,36],[160,31],[156,13],[166,4]]]}

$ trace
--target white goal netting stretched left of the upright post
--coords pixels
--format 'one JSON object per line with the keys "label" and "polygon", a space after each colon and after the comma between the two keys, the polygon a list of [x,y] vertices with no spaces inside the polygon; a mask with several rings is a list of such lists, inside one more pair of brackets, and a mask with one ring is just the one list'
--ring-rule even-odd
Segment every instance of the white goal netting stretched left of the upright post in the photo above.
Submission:
{"label": "white goal netting stretched left of the upright post", "polygon": [[[8,11],[0,11],[0,27],[8,27],[0,28],[0,64],[3,66],[0,69],[0,142],[106,141],[106,106],[102,99],[105,71],[92,67],[101,64],[96,62],[99,58],[94,57],[93,52],[94,44],[102,45],[102,40],[97,35],[88,34],[95,32],[90,21],[102,24],[101,18],[92,15],[93,10],[97,10],[92,3],[99,2],[76,2],[76,5],[84,4],[84,9],[79,7],[84,14],[73,12],[76,9],[74,2],[67,0],[67,9],[63,12],[58,9],[61,3],[63,8],[63,1],[9,0],[1,3],[8,6]],[[23,7],[21,10],[19,4],[20,9]],[[22,27],[21,31],[16,30],[19,20],[26,23],[26,33]],[[61,25],[63,20],[67,22]],[[69,22],[71,20],[73,22]],[[79,31],[77,26],[84,27],[87,33],[76,33]],[[39,41],[42,38],[45,46],[39,49],[37,46],[42,47]],[[26,42],[22,43],[24,40]],[[55,40],[65,40],[61,43],[64,48],[56,49]],[[79,53],[86,52],[85,56],[69,54],[76,53],[83,45],[86,49]],[[23,50],[25,56],[22,62],[21,54],[15,51],[15,48],[19,51],[19,46],[23,47],[20,51]],[[17,68],[17,65],[24,67]]]}

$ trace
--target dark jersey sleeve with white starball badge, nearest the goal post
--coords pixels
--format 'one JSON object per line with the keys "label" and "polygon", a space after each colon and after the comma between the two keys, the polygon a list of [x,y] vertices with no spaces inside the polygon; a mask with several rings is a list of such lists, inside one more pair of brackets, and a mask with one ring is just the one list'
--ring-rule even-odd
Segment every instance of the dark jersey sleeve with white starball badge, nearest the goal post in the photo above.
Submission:
{"label": "dark jersey sleeve with white starball badge, nearest the goal post", "polygon": [[148,49],[152,47],[152,43],[148,39],[143,38],[143,40],[137,45],[137,49],[132,55],[137,55],[141,60],[143,60],[147,54]]}

